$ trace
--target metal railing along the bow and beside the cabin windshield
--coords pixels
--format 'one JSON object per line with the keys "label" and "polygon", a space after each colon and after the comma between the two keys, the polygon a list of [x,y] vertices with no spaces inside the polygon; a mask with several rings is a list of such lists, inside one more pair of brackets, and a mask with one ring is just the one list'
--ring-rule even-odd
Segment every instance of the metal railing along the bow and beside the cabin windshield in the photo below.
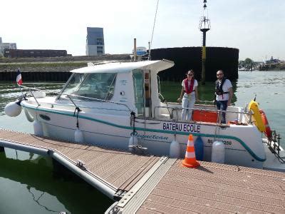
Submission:
{"label": "metal railing along the bow and beside the cabin windshield", "polygon": [[[28,92],[31,93],[31,96],[33,96],[33,98],[35,99],[36,103],[38,104],[38,106],[41,106],[40,103],[38,102],[35,94],[33,93],[33,91],[43,91],[43,92],[46,92],[44,90],[40,90],[38,88],[32,88],[32,87],[27,87],[27,86],[20,86],[20,89],[21,88],[26,88],[28,89]],[[26,95],[24,94],[24,91],[21,90],[21,93],[24,97],[26,97]],[[117,105],[120,105],[120,106],[124,106],[125,108],[127,108],[127,110],[123,110],[123,109],[120,109],[118,111],[128,111],[128,112],[132,112],[132,110],[129,108],[128,105],[124,104],[124,103],[118,103],[118,102],[115,102],[115,101],[107,101],[107,100],[103,100],[103,99],[98,99],[98,98],[91,98],[91,97],[88,97],[88,96],[78,96],[78,95],[75,95],[75,94],[68,94],[68,93],[56,93],[58,96],[67,96],[67,98],[71,101],[71,103],[73,104],[73,106],[75,106],[76,108],[78,107],[81,107],[81,108],[90,108],[90,107],[86,107],[86,106],[80,106],[80,105],[76,105],[76,101],[74,101],[74,99],[72,97],[77,97],[77,98],[84,98],[84,99],[89,99],[89,100],[93,100],[93,101],[99,101],[100,103],[114,103],[114,104],[117,104]],[[56,106],[65,106],[65,105],[61,105],[59,103],[53,103],[53,105],[56,105]],[[105,109],[105,110],[109,110],[109,109]],[[114,109],[112,109],[113,111]]]}

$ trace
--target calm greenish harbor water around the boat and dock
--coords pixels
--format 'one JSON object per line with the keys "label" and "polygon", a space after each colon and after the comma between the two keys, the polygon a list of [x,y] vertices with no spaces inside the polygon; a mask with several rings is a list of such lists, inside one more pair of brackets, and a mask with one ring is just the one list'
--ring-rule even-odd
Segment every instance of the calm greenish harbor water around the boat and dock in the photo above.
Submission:
{"label": "calm greenish harbor water around the boat and dock", "polygon": [[[176,101],[180,82],[161,82],[166,101]],[[63,83],[36,83],[37,88],[53,94]],[[31,85],[31,86],[33,86]],[[285,147],[285,72],[239,71],[233,82],[236,106],[246,106],[254,96],[266,113],[271,129],[281,134]],[[198,87],[199,99],[212,101],[214,83]],[[4,114],[6,103],[21,95],[12,82],[0,82],[0,128],[33,133],[24,112],[16,118]],[[0,213],[103,213],[113,203],[102,193],[71,173],[53,168],[51,158],[5,148],[0,153]]]}

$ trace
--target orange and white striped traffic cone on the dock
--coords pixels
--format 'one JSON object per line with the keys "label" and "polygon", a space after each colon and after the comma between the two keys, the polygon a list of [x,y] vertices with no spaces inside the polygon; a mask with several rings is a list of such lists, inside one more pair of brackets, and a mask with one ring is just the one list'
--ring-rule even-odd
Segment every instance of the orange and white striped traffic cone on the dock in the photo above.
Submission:
{"label": "orange and white striped traffic cone on the dock", "polygon": [[196,161],[192,134],[190,134],[188,138],[185,159],[182,161],[182,165],[190,168],[197,168],[199,166],[199,163]]}

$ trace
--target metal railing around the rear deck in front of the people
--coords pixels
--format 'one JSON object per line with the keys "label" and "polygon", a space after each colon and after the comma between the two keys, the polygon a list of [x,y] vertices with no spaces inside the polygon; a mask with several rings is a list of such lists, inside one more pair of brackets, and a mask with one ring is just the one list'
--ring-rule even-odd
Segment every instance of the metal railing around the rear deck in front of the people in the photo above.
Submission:
{"label": "metal railing around the rear deck in front of the people", "polygon": [[[222,113],[236,113],[237,115],[238,114],[244,114],[244,115],[247,115],[249,116],[249,123],[252,123],[252,115],[253,113],[251,111],[248,111],[248,112],[242,112],[242,111],[222,111],[222,110],[217,110],[217,109],[209,109],[209,108],[182,108],[182,107],[178,107],[178,106],[155,106],[154,108],[154,117],[157,118],[157,114],[156,114],[156,110],[157,109],[160,109],[160,108],[165,108],[167,109],[167,111],[170,113],[170,118],[172,120],[175,120],[175,121],[182,121],[182,120],[179,120],[179,111],[182,111],[183,109],[185,110],[192,110],[192,111],[200,111],[200,112],[203,112],[203,111],[206,111],[206,112],[217,112],[217,115],[218,115],[218,120],[217,120],[217,123],[221,123],[221,116],[222,116]],[[175,118],[173,117],[174,116],[174,113],[175,113]],[[160,115],[160,114],[158,114]]]}

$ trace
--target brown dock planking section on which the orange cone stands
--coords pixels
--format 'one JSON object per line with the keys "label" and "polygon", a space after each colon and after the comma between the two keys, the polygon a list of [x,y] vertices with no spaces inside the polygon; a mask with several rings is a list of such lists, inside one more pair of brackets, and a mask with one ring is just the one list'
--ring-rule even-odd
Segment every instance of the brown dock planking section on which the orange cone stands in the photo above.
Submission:
{"label": "brown dock planking section on which the orange cone stands", "polygon": [[177,160],[138,213],[285,213],[284,173],[199,163],[185,168]]}

